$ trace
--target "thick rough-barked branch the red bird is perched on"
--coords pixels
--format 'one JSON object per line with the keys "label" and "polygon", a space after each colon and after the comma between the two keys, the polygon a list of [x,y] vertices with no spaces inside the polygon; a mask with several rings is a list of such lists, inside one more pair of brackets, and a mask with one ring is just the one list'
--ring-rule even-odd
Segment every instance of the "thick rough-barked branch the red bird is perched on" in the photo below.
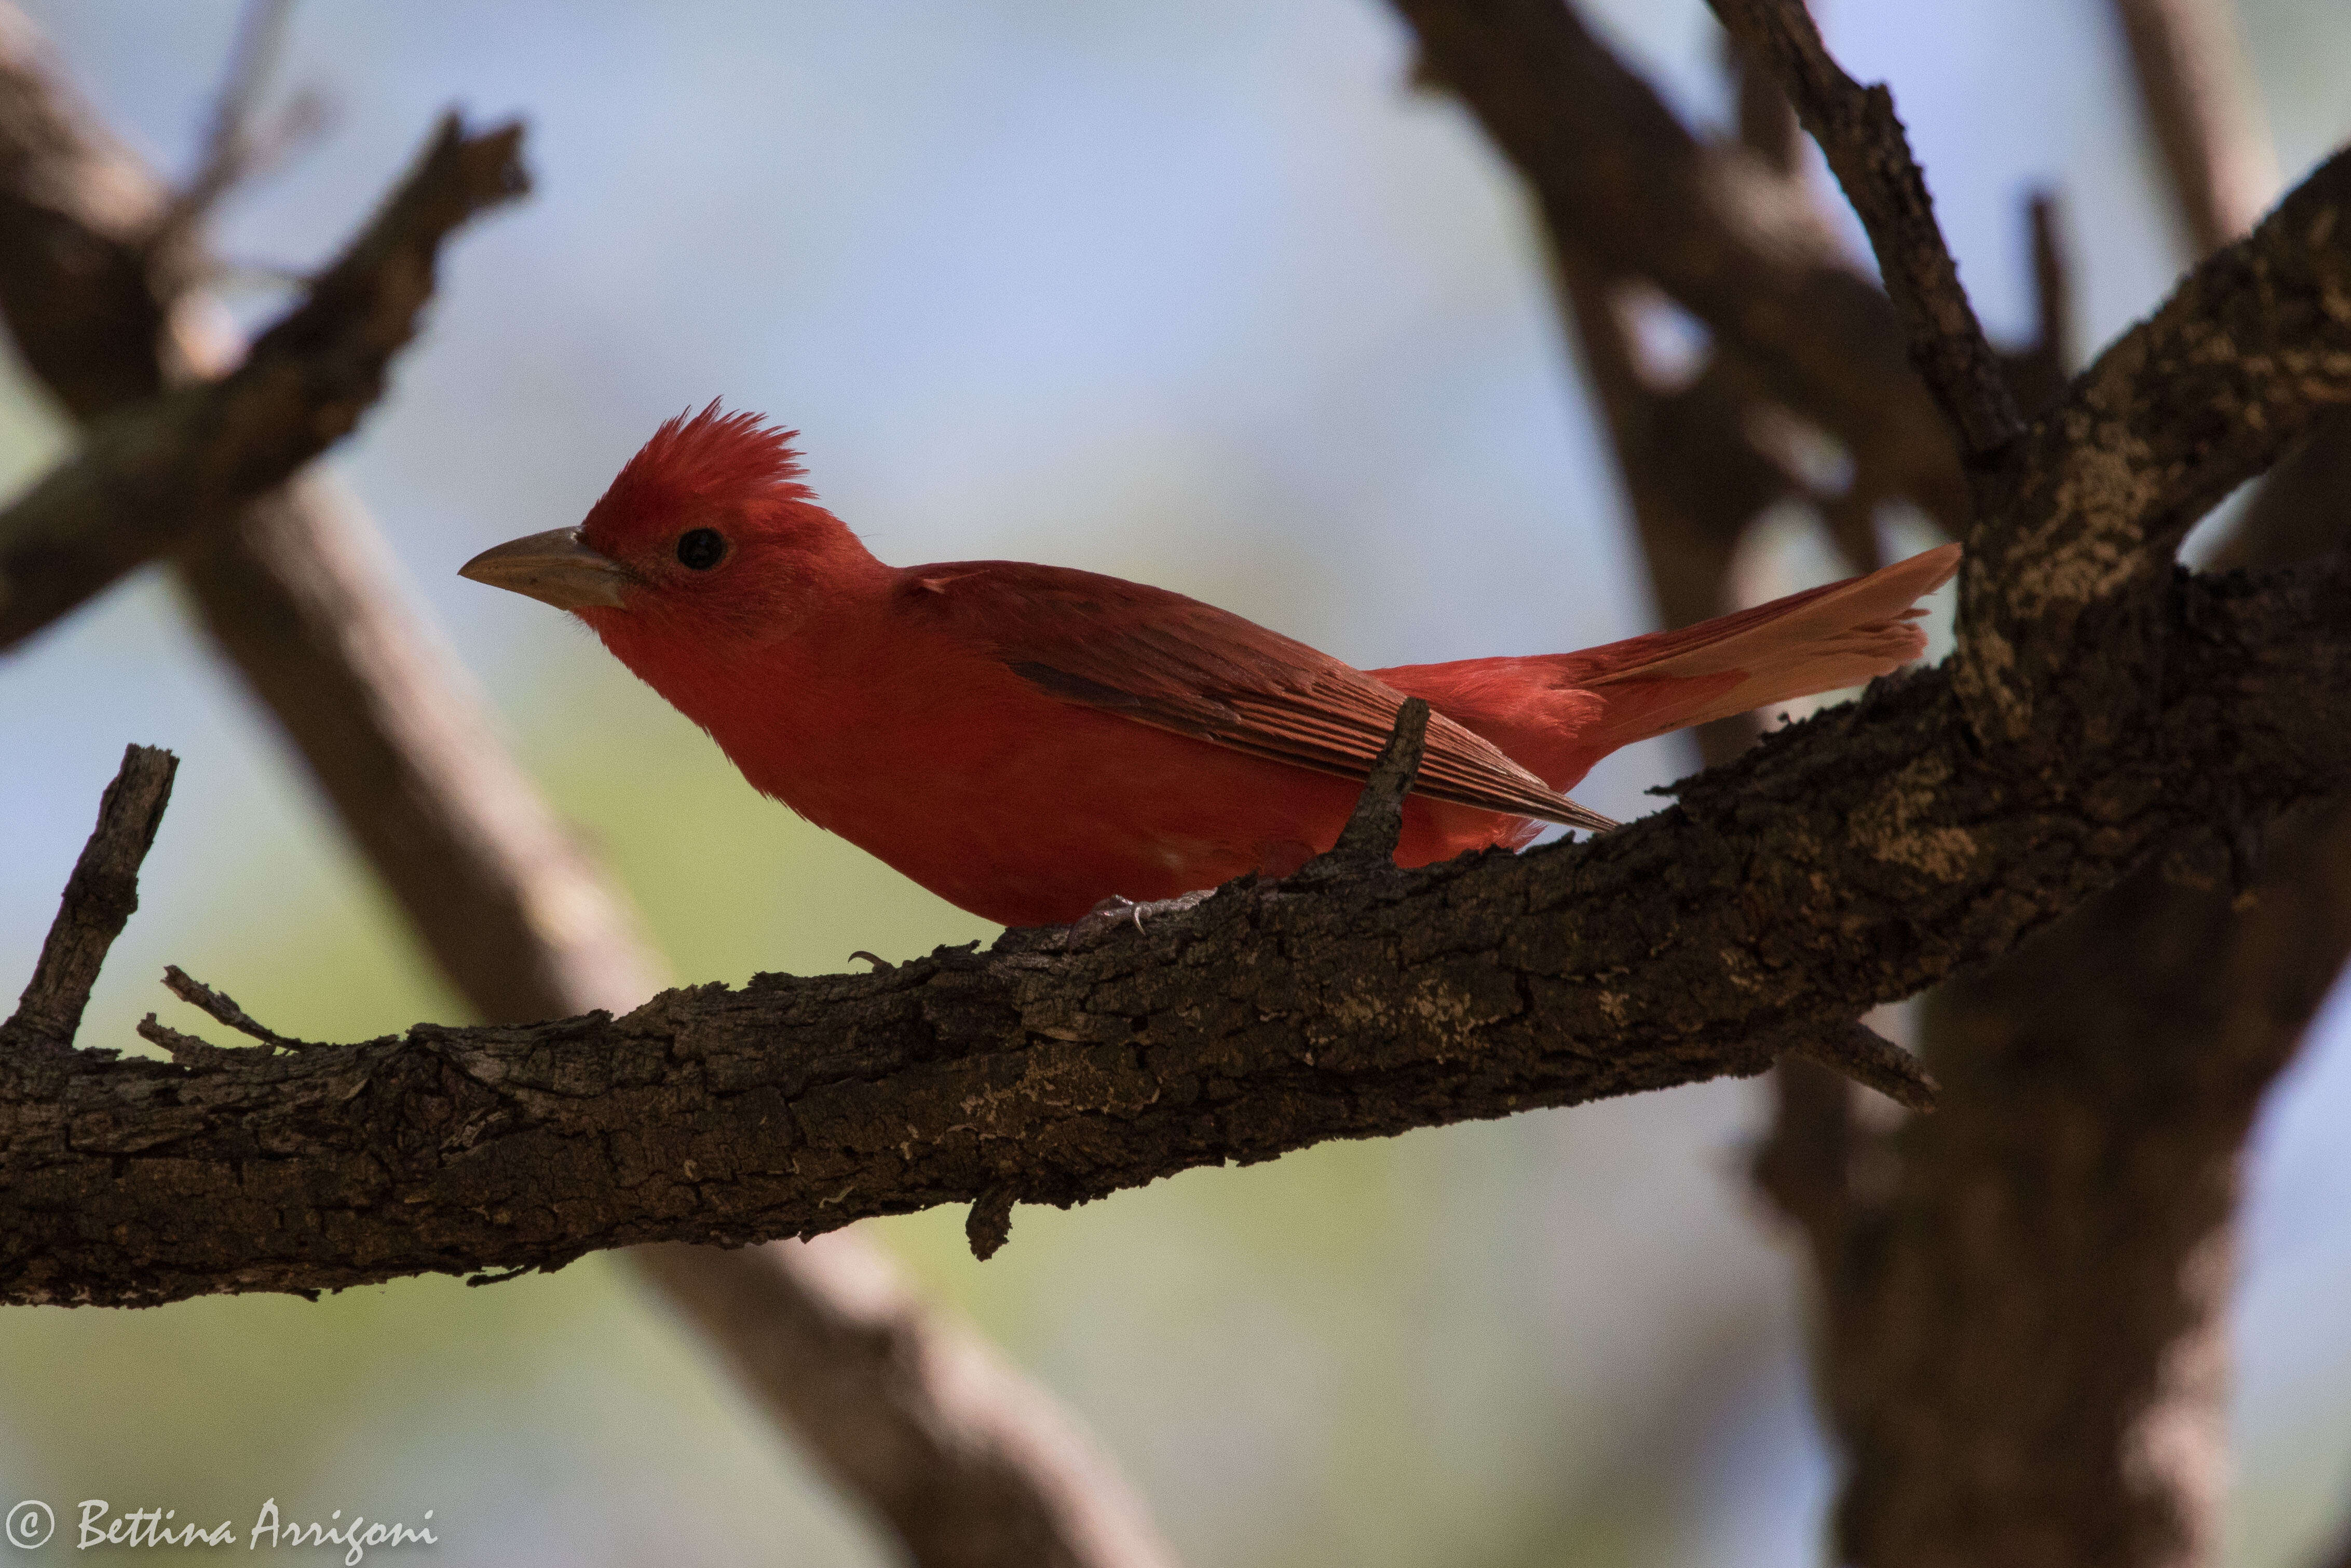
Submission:
{"label": "thick rough-barked branch the red bird is perched on", "polygon": [[[665,992],[625,1018],[59,1063],[0,1105],[0,1298],[153,1302],[654,1239],[1070,1204],[1759,1072],[2005,952],[2179,832],[2351,778],[2351,567],[2184,581],[2139,724],[1987,766],[1949,682],[1780,731],[1589,844],[1234,886],[1065,952]],[[190,1194],[207,1194],[190,1208]]]}

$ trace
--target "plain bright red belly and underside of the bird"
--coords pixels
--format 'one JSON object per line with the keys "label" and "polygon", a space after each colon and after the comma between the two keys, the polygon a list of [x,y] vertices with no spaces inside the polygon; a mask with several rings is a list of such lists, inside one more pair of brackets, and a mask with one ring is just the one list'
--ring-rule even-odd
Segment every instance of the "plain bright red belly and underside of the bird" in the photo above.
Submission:
{"label": "plain bright red belly and underside of the bird", "polygon": [[[1328,849],[1361,785],[1091,708],[905,743],[842,733],[773,776],[802,816],[947,903],[1006,926],[1065,924],[1105,898],[1173,898]],[[1396,860],[1523,837],[1519,818],[1413,797]]]}

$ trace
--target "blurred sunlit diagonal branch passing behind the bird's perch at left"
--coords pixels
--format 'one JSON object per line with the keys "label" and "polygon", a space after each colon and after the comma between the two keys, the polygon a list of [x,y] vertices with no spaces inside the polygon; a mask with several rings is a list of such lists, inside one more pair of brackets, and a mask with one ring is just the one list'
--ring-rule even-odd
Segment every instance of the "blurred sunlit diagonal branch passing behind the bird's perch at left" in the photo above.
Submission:
{"label": "blurred sunlit diagonal branch passing behind the bird's perch at left", "polygon": [[[216,376],[202,207],[256,143],[268,19],[247,19],[212,148],[174,200],[71,101],[0,9],[0,313],[75,418]],[[357,505],[317,475],[261,496],[176,571],[411,929],[487,1018],[625,1009],[661,959],[491,733]],[[71,1030],[66,1030],[71,1039]],[[1173,1552],[1049,1394],[936,1324],[858,1237],[632,1255],[851,1500],[926,1568],[1157,1568]],[[823,1389],[811,1399],[809,1387]]]}

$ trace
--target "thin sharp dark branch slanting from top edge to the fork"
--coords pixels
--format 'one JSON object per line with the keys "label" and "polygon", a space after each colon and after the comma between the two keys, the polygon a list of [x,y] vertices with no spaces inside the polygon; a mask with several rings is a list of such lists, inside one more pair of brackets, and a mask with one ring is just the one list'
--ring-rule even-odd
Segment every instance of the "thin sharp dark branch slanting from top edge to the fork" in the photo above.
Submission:
{"label": "thin sharp dark branch slanting from top edge to the fork", "polygon": [[1803,0],[1709,0],[1723,28],[1770,61],[1803,129],[1829,155],[1836,181],[1869,230],[1878,275],[1902,313],[1911,364],[1961,435],[1970,463],[1989,463],[2024,428],[1998,355],[1975,320],[1958,263],[1935,223],[1925,172],[1911,158],[1893,94],[1862,87],[1829,59]]}

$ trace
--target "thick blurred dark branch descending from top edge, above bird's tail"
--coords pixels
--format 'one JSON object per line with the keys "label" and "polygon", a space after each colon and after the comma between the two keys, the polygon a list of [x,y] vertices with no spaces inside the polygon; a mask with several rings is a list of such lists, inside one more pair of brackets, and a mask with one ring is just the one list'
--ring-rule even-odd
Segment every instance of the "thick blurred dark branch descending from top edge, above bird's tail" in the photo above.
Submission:
{"label": "thick blurred dark branch descending from top edge, above bird's tail", "polygon": [[1951,534],[1968,484],[1886,294],[1813,200],[1690,136],[1561,0],[1394,0],[1422,75],[1476,115],[1561,247],[1648,277],[1737,350],[1773,397],[1836,435],[1862,494],[1907,494]]}

